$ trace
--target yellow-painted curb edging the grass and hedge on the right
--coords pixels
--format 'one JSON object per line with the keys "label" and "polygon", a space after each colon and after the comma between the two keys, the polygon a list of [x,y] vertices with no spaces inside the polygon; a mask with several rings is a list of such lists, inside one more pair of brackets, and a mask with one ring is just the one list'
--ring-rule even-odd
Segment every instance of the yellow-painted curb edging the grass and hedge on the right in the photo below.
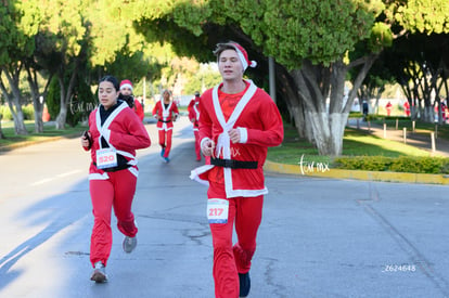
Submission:
{"label": "yellow-painted curb edging the grass and hedge on the right", "polygon": [[448,174],[411,173],[411,172],[386,172],[386,171],[362,171],[342,170],[329,168],[302,168],[299,165],[285,165],[267,160],[264,165],[266,171],[286,173],[304,177],[354,179],[384,182],[405,182],[423,184],[449,184]]}

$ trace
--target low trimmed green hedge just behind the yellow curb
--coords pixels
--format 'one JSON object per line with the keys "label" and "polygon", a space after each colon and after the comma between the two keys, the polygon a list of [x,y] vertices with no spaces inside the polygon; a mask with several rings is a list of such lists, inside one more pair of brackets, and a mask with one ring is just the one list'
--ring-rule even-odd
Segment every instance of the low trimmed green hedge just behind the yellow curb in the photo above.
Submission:
{"label": "low trimmed green hedge just behind the yellow curb", "polygon": [[337,157],[333,168],[365,171],[393,171],[414,173],[449,173],[449,158],[420,156],[352,156]]}

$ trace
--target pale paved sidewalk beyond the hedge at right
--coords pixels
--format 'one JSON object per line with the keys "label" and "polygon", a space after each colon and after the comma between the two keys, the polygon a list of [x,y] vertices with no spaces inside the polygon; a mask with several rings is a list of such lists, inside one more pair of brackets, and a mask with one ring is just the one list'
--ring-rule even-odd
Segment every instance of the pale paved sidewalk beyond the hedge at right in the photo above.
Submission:
{"label": "pale paved sidewalk beyond the hedge at right", "polygon": [[[383,127],[379,125],[373,125],[362,119],[349,119],[348,127],[358,128],[360,130],[365,130],[371,132],[373,135],[379,138],[385,138],[396,142],[403,142],[403,130],[401,127],[386,127],[384,130]],[[422,133],[419,131],[407,131],[406,143],[425,151],[433,153],[433,156],[444,156],[449,157],[449,141],[444,139],[438,139],[438,133],[435,134],[435,151],[432,150],[432,138],[431,133]]]}

